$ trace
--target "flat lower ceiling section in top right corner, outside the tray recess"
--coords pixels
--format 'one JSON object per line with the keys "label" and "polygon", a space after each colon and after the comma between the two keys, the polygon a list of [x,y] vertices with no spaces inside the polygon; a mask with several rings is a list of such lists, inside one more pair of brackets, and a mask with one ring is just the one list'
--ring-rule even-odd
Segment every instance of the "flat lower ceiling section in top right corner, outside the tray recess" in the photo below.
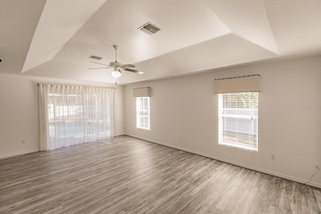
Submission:
{"label": "flat lower ceiling section in top right corner, outside the tray recess", "polygon": [[281,56],[321,54],[321,1],[263,0]]}

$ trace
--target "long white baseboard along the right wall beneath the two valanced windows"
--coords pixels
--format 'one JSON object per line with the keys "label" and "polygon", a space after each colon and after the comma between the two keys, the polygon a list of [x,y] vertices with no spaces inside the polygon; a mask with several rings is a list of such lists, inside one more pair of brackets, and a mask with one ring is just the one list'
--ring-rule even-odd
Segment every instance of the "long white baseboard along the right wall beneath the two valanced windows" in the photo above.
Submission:
{"label": "long white baseboard along the right wall beneath the two valanced windows", "polygon": [[[146,139],[146,138],[135,136],[135,135],[132,135],[132,134],[126,134],[126,135],[131,136],[131,137],[135,137],[135,138],[138,138],[138,139],[146,140],[146,141],[149,141],[149,142],[152,142],[152,143],[157,143],[157,144],[161,144],[161,145],[164,145],[164,146],[180,149],[180,150],[191,152],[191,153],[198,154],[198,155],[202,155],[204,157],[209,157],[209,158],[212,158],[212,159],[215,159],[215,160],[220,160],[220,161],[223,161],[223,162],[226,162],[226,163],[230,163],[230,164],[233,164],[233,165],[241,166],[241,167],[252,169],[252,170],[255,170],[255,171],[259,171],[259,172],[263,172],[263,173],[266,173],[266,174],[274,175],[274,176],[277,176],[277,177],[285,178],[285,179],[288,179],[288,180],[296,181],[296,182],[299,182],[299,183],[305,183],[305,182],[308,181],[308,180],[304,180],[304,179],[301,179],[301,178],[298,178],[298,177],[293,177],[293,176],[290,176],[290,175],[287,175],[287,174],[282,174],[282,173],[279,173],[279,172],[270,171],[270,170],[263,169],[263,168],[258,168],[258,167],[255,167],[255,166],[243,164],[243,163],[240,163],[240,162],[228,160],[228,159],[221,158],[221,157],[216,157],[216,156],[213,156],[213,155],[210,155],[210,154],[205,154],[205,153],[194,151],[194,150],[191,150],[191,149],[186,149],[186,148],[183,148],[183,147],[180,147],[180,146],[174,146],[174,145],[171,145],[171,144],[167,144],[167,143],[163,143],[163,142],[159,142],[159,141],[155,141],[155,140]],[[317,188],[321,188],[321,183],[317,183],[317,182],[313,182],[313,181],[309,182],[307,185],[314,186],[314,187],[317,187]]]}

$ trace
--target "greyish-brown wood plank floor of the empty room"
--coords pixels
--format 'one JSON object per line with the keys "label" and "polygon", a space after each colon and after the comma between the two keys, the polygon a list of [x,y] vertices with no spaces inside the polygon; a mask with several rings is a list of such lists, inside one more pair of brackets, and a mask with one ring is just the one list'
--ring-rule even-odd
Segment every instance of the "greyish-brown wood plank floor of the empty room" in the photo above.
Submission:
{"label": "greyish-brown wood plank floor of the empty room", "polygon": [[321,190],[129,136],[0,160],[0,213],[321,213]]}

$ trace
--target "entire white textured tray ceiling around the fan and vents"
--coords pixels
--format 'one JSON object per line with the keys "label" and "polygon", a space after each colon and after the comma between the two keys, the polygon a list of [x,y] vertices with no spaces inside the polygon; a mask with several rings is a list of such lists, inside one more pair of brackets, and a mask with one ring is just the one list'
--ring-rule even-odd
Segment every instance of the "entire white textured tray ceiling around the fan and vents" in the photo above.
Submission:
{"label": "entire white textured tray ceiling around the fan and vents", "polygon": [[[161,31],[139,30],[151,22]],[[122,84],[321,54],[319,0],[0,0],[0,73]]]}

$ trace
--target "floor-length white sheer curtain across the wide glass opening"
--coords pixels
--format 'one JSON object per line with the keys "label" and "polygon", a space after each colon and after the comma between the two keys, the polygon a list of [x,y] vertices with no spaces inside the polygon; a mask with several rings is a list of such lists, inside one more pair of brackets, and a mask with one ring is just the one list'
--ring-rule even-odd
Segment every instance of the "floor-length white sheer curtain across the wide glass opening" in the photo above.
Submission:
{"label": "floor-length white sheer curtain across the wide glass opening", "polygon": [[115,136],[115,90],[38,84],[39,149]]}

